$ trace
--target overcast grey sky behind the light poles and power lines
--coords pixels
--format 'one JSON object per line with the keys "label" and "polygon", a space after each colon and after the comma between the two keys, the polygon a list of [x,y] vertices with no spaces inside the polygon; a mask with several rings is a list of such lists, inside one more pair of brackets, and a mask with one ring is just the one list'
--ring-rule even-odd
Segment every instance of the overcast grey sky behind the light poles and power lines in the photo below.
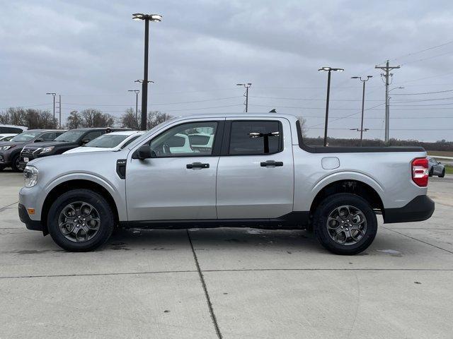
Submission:
{"label": "overcast grey sky behind the light poles and power lines", "polygon": [[[131,14],[159,13],[162,22],[150,25],[150,110],[243,112],[236,83],[251,82],[249,112],[306,117],[309,136],[319,136],[327,74],[317,70],[341,67],[329,135],[358,136],[349,129],[360,127],[362,85],[350,77],[371,75],[365,108],[377,107],[365,112],[366,137],[384,138],[374,66],[391,59],[401,65],[391,88],[404,89],[391,93],[390,136],[453,140],[451,0],[1,0],[0,8],[1,109],[52,109],[45,93],[56,92],[64,119],[87,107],[119,117],[143,77],[144,23]],[[447,92],[399,95],[438,91]]]}

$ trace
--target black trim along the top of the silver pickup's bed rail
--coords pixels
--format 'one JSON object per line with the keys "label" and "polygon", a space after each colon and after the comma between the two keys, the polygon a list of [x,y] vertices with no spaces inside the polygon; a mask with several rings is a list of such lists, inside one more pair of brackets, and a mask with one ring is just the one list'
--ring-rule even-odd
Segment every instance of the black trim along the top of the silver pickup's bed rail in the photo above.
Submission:
{"label": "black trim along the top of the silver pickup's bed rail", "polygon": [[309,146],[304,144],[300,121],[296,121],[299,148],[309,153],[384,153],[384,152],[425,152],[423,147],[389,146],[389,147],[350,147],[350,146]]}

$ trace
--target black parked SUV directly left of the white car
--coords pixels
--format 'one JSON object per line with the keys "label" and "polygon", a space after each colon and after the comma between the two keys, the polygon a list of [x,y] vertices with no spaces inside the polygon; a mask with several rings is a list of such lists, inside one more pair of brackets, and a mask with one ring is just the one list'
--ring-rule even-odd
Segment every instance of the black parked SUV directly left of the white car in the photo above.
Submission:
{"label": "black parked SUV directly left of the white car", "polygon": [[25,167],[27,162],[38,157],[47,157],[49,155],[57,155],[71,150],[72,148],[80,147],[93,139],[102,136],[105,133],[113,131],[127,131],[128,129],[110,129],[110,127],[98,127],[93,129],[70,129],[66,131],[54,141],[42,143],[33,143],[25,145],[21,153],[20,165]]}

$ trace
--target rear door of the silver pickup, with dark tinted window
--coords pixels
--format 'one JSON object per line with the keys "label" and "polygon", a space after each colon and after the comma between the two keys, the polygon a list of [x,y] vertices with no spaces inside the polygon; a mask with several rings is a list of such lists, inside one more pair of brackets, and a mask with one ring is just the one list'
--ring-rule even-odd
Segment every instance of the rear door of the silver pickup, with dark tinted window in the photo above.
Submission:
{"label": "rear door of the silver pickup, with dark tinted window", "polygon": [[219,219],[278,218],[293,210],[289,121],[226,119],[217,169]]}

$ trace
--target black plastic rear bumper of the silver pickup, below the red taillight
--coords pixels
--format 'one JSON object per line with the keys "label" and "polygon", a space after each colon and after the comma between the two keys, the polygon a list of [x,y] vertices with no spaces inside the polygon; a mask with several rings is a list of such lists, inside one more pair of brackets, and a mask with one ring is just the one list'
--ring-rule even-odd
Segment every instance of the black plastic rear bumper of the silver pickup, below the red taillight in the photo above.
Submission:
{"label": "black plastic rear bumper of the silver pickup, below the red taillight", "polygon": [[435,203],[428,196],[416,196],[406,206],[401,208],[386,208],[384,210],[384,223],[415,222],[431,218],[434,213]]}

